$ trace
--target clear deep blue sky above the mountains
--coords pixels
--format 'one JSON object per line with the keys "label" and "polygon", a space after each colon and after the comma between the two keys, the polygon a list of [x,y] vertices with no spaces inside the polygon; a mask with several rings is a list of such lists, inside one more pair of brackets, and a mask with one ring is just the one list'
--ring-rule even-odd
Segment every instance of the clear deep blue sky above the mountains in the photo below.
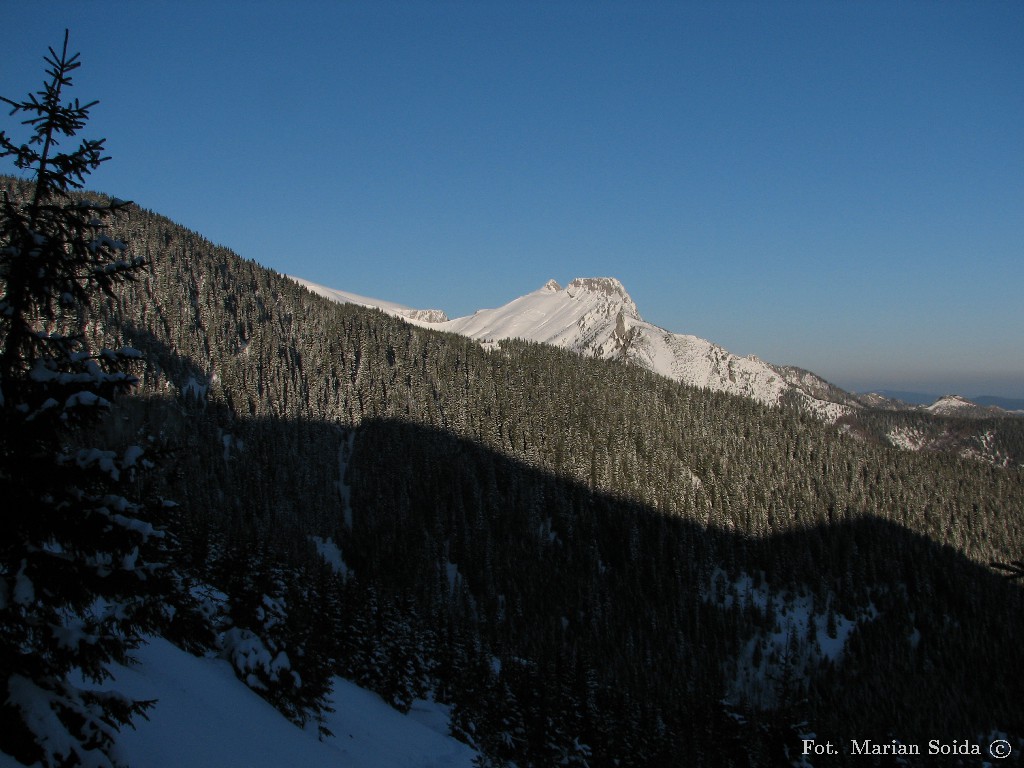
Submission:
{"label": "clear deep blue sky above the mountains", "polygon": [[0,94],[66,27],[92,187],[279,271],[453,317],[610,275],[850,389],[1024,397],[1017,0],[8,0]]}

